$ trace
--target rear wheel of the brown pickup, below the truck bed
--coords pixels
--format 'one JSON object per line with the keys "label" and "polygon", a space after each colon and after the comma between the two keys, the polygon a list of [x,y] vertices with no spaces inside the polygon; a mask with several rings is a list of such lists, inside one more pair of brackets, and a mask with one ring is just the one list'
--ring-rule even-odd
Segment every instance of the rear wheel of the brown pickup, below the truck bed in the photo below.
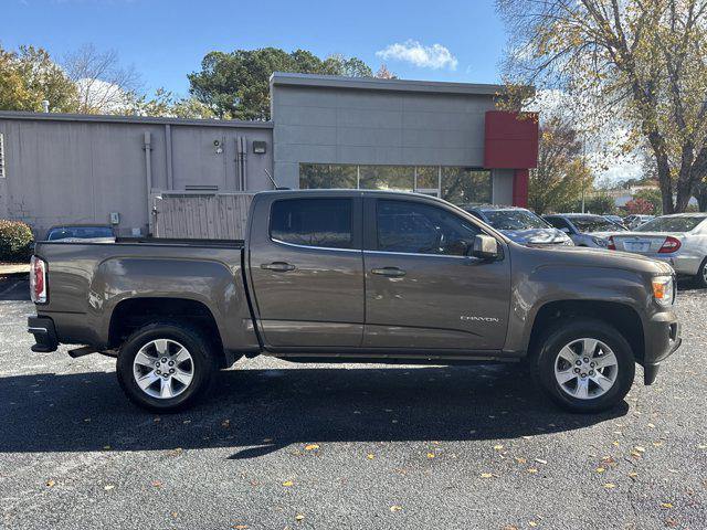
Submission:
{"label": "rear wheel of the brown pickup, below the truck bed", "polygon": [[182,411],[207,392],[218,370],[211,344],[201,330],[183,322],[145,326],[120,347],[118,382],[128,399],[145,410]]}

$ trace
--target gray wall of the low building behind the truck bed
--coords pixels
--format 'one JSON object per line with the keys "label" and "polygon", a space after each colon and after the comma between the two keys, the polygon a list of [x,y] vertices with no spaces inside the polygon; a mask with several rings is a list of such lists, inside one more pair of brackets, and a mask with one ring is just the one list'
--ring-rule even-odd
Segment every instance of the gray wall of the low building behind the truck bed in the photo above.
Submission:
{"label": "gray wall of the low building behind the truck bed", "polygon": [[[14,116],[13,116],[14,115]],[[167,127],[169,125],[169,128]],[[60,223],[107,223],[119,212],[118,232],[146,233],[148,197],[144,137],[151,137],[152,190],[218,186],[236,191],[235,138],[247,138],[249,190],[272,186],[272,126],[149,118],[27,116],[0,113],[6,178],[0,178],[0,218],[28,222],[38,234]],[[171,130],[171,186],[168,131]],[[217,153],[214,139],[223,142]],[[252,141],[266,141],[253,155]]]}

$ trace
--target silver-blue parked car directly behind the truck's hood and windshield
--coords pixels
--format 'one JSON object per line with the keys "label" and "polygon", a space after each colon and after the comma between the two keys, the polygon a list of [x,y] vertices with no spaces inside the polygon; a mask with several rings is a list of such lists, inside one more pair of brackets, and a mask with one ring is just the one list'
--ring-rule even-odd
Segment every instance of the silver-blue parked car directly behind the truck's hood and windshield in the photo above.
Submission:
{"label": "silver-blue parked car directly behind the truck's hood and windshield", "polygon": [[464,210],[521,245],[572,245],[566,234],[525,208],[483,205]]}

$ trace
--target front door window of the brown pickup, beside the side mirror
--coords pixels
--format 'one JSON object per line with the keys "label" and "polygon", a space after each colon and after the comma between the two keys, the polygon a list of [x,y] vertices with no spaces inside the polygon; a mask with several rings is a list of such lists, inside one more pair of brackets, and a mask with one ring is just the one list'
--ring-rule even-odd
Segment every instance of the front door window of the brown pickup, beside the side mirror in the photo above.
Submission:
{"label": "front door window of the brown pickup, beside the side mirror", "polygon": [[378,201],[378,250],[463,256],[481,233],[441,208],[412,201]]}

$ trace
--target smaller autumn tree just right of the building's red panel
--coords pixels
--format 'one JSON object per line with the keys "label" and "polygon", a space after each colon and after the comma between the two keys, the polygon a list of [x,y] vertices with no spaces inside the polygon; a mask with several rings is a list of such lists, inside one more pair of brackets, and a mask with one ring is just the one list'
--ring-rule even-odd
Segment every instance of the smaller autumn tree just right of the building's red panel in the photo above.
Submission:
{"label": "smaller autumn tree just right of the building's red panel", "polygon": [[591,189],[592,176],[582,160],[577,131],[553,117],[540,128],[538,167],[530,171],[528,205],[538,214],[560,211]]}

